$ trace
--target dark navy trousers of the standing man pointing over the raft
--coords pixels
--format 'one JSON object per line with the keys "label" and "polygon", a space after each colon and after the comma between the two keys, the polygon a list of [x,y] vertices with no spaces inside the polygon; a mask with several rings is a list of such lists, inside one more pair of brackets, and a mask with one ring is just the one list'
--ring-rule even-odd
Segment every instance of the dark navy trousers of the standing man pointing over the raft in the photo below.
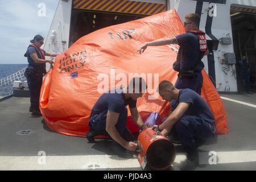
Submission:
{"label": "dark navy trousers of the standing man pointing over the raft", "polygon": [[201,89],[203,86],[203,76],[202,73],[195,73],[193,78],[177,78],[175,83],[175,88],[177,89],[191,89],[196,93],[201,95]]}

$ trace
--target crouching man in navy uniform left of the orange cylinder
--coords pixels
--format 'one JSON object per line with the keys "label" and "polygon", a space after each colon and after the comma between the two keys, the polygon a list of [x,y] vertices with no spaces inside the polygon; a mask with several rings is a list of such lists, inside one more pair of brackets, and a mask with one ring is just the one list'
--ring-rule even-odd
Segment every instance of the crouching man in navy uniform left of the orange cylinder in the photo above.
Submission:
{"label": "crouching man in navy uniform left of the orange cylinder", "polygon": [[[137,144],[134,143],[134,137],[126,127],[127,108],[131,112],[133,121],[141,129],[144,125],[141,115],[137,110],[137,98],[142,97],[146,91],[147,85],[143,78],[133,78],[127,88],[110,90],[102,94],[92,108],[89,119],[90,131],[86,135],[89,142],[94,142],[97,135],[110,136],[115,144],[128,151],[137,150]],[[131,92],[129,92],[131,90]]]}

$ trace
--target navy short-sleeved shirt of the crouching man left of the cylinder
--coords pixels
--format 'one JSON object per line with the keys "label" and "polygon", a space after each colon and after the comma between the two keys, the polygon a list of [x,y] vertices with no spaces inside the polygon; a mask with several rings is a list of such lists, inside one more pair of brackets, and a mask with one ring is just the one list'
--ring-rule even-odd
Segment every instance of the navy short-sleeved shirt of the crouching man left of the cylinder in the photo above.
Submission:
{"label": "navy short-sleeved shirt of the crouching man left of the cylinder", "polygon": [[[118,90],[121,91],[121,90]],[[123,109],[127,105],[129,107],[134,108],[136,107],[137,100],[133,100],[128,98],[125,100],[125,95],[121,92],[115,91],[115,93],[108,93],[102,94],[100,98],[98,98],[97,102],[93,106],[94,113],[101,113],[102,111],[110,110],[115,113],[121,113]]]}

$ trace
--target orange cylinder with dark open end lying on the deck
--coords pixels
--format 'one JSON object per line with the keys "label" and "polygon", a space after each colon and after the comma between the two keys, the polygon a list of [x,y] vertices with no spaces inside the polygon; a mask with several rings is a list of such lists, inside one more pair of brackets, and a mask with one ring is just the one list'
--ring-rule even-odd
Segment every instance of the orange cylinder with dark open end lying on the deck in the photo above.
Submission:
{"label": "orange cylinder with dark open end lying on the deck", "polygon": [[138,136],[138,146],[141,149],[139,163],[144,169],[148,164],[155,170],[164,170],[171,167],[176,151],[174,145],[161,133],[152,128],[143,130]]}

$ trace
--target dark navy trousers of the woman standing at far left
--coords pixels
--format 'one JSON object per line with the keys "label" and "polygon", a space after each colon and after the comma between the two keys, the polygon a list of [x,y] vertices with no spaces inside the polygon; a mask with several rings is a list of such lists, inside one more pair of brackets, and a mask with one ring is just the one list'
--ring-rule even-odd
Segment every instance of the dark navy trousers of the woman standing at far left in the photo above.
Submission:
{"label": "dark navy trousers of the woman standing at far left", "polygon": [[32,111],[39,111],[39,97],[43,82],[43,75],[33,73],[32,75],[25,74],[27,77],[28,88],[30,89],[30,104]]}

